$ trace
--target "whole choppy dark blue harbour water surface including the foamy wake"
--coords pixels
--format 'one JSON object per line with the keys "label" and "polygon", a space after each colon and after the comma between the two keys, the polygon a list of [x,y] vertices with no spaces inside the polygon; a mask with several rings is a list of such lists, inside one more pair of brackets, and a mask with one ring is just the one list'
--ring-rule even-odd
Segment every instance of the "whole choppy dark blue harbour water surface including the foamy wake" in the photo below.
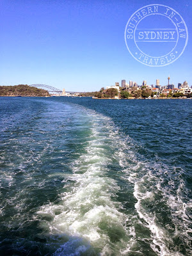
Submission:
{"label": "whole choppy dark blue harbour water surface including the foamy wake", "polygon": [[0,98],[1,255],[192,255],[192,100]]}

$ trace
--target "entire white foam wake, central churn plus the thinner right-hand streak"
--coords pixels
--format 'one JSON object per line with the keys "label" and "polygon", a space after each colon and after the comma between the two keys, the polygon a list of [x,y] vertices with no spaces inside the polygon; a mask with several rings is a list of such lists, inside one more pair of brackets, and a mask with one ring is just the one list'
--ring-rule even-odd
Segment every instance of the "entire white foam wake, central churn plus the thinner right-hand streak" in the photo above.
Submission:
{"label": "entire white foam wake, central churn plus the thinner right-hand streak", "polygon": [[[111,248],[113,248],[114,255],[126,255],[134,252],[141,253],[140,250],[135,250],[137,239],[142,240],[142,237],[137,237],[138,234],[134,230],[134,225],[139,223],[150,230],[148,242],[157,255],[181,256],[182,253],[170,250],[169,244],[173,244],[172,237],[170,237],[168,230],[162,227],[161,223],[158,223],[156,214],[149,212],[143,206],[145,200],[155,203],[156,194],[159,191],[163,191],[166,195],[164,202],[168,196],[172,195],[170,191],[163,190],[161,186],[161,182],[164,182],[163,175],[166,168],[162,171],[160,165],[156,166],[144,160],[140,161],[140,156],[135,152],[134,140],[121,138],[118,131],[114,131],[109,118],[96,115],[93,111],[90,111],[89,114],[94,122],[92,123],[92,134],[88,138],[86,154],[75,161],[72,166],[73,175],[68,177],[69,180],[74,180],[73,188],[65,186],[67,192],[61,194],[60,205],[44,205],[38,211],[41,216],[47,215],[53,219],[51,222],[45,221],[44,225],[49,227],[51,234],[67,236],[68,241],[72,239],[71,243],[75,243],[73,240],[76,241],[77,237],[81,241],[86,239],[86,242],[82,242],[83,244],[81,242],[76,244],[73,251],[76,254],[74,255],[79,255],[78,250],[82,248],[84,250],[84,247],[81,246],[86,246],[87,251],[84,252],[88,252],[90,244],[100,249],[100,255],[110,255],[112,253]],[[129,182],[134,198],[136,198],[136,215],[132,213],[130,216],[122,214],[120,212],[122,205],[111,200],[111,196],[115,197],[119,189],[115,180],[106,176],[109,172],[108,164],[111,162],[109,152],[112,148],[113,150],[116,148],[113,159],[116,159],[122,168],[121,179]],[[151,172],[150,169],[154,169],[156,172]],[[184,204],[181,203],[181,205],[185,207]],[[175,209],[170,216],[172,220],[174,212]],[[187,217],[185,216],[185,218]],[[120,243],[114,243],[111,247],[111,237],[108,232],[104,231],[106,227],[102,228],[104,223],[108,223],[111,230],[114,228],[124,234]],[[125,223],[132,223],[132,225],[127,228]],[[61,246],[56,251],[60,254],[56,255],[67,255],[66,253],[69,252],[70,248],[66,247],[68,246],[66,243],[64,245],[65,250]]]}

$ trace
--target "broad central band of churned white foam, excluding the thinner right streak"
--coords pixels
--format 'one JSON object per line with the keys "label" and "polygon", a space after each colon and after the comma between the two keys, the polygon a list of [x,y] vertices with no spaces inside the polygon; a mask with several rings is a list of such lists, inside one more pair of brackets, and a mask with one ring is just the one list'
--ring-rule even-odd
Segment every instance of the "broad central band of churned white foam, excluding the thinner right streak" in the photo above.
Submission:
{"label": "broad central band of churned white foam, excluding the thinner right streak", "polygon": [[[99,248],[100,255],[110,255],[114,250],[111,249],[111,236],[115,236],[116,243],[119,243],[120,237],[126,237],[126,216],[118,211],[122,206],[116,200],[111,200],[111,196],[116,198],[118,186],[108,176],[108,164],[111,163],[109,129],[113,128],[108,124],[109,118],[95,113],[91,118],[94,121],[90,127],[92,132],[86,138],[86,154],[74,161],[71,166],[73,174],[68,177],[68,180],[74,181],[73,187],[72,184],[65,186],[67,191],[60,195],[60,205],[44,205],[38,211],[40,216],[52,217],[51,222],[44,222],[51,234],[60,234],[69,239],[55,255],[80,255],[82,250],[90,250],[90,244]],[[121,243],[124,246],[123,240]],[[71,244],[75,247],[70,254]]]}

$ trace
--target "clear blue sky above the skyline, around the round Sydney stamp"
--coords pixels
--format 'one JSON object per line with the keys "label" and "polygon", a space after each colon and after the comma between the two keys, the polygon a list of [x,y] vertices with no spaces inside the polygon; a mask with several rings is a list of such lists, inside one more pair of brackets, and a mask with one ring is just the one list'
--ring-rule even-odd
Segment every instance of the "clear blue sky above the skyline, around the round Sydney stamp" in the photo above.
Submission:
{"label": "clear blue sky above the skyline, around the round Sydney stamp", "polygon": [[[132,13],[147,4],[172,7],[186,22],[188,45],[165,67],[132,58],[124,30]],[[122,79],[141,84],[192,85],[192,1],[0,1],[0,85],[48,84],[67,91],[99,90]]]}

